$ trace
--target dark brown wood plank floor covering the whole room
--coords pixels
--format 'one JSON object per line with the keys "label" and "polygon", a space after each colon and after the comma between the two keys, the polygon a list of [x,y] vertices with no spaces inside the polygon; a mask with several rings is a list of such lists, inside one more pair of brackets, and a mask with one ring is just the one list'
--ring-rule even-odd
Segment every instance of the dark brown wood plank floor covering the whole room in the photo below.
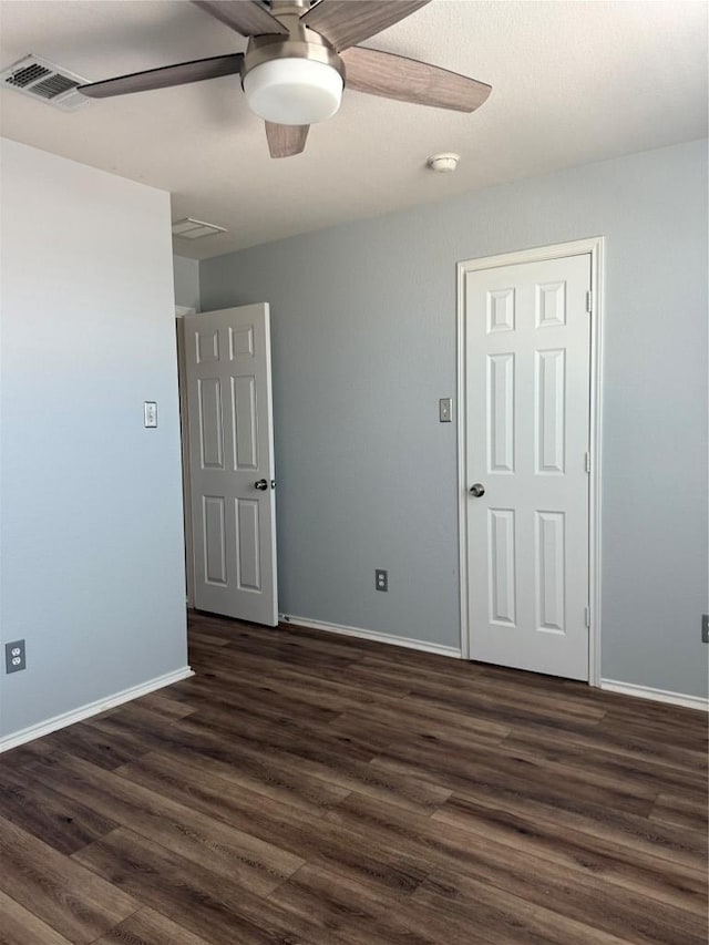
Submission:
{"label": "dark brown wood plank floor covering the whole room", "polygon": [[206,616],[0,757],[0,942],[707,941],[706,716]]}

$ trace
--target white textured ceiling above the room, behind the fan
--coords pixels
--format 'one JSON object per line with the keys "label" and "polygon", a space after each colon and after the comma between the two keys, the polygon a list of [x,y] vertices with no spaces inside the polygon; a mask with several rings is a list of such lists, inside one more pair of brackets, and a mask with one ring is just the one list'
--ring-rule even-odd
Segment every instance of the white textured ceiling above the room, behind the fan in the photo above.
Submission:
{"label": "white textured ceiling above the room, behind the fan", "polygon": [[[707,4],[698,0],[433,0],[366,44],[492,84],[471,115],[346,91],[306,152],[274,161],[236,76],[64,113],[11,91],[3,135],[169,191],[175,240],[206,258],[343,220],[707,134]],[[2,0],[0,68],[32,52],[90,81],[242,51],[185,0]],[[453,175],[425,170],[456,151]]]}

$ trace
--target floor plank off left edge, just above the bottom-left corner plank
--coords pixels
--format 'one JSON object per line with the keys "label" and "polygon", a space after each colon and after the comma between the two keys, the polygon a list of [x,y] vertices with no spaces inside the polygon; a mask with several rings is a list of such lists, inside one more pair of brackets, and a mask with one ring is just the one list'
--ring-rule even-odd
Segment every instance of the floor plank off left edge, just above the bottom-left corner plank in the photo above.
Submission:
{"label": "floor plank off left edge, just above the bottom-left corner plank", "polygon": [[0,890],[78,945],[127,918],[138,903],[0,818]]}

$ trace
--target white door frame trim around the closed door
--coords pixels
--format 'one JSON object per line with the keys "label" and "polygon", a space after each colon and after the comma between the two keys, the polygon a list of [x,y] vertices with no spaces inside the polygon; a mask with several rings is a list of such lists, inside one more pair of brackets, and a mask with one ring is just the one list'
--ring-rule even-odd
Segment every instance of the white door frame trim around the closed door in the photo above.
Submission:
{"label": "white door frame trim around the closed door", "polygon": [[603,304],[604,304],[603,236],[559,243],[535,249],[522,249],[501,256],[486,256],[458,264],[458,522],[460,559],[461,653],[470,659],[471,628],[467,610],[467,417],[465,358],[465,276],[480,269],[516,266],[520,263],[543,263],[565,256],[590,256],[590,473],[588,483],[588,685],[600,686],[600,449],[602,449],[602,378],[603,378]]}

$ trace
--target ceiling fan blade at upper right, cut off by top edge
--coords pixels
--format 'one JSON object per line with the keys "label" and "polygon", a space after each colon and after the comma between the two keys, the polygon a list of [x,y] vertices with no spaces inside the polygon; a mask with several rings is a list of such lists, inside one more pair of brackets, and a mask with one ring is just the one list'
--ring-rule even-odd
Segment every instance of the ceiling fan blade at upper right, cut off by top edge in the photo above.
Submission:
{"label": "ceiling fan blade at upper right, cut off by top edge", "polygon": [[328,39],[338,50],[348,49],[398,23],[431,0],[320,0],[300,22]]}

